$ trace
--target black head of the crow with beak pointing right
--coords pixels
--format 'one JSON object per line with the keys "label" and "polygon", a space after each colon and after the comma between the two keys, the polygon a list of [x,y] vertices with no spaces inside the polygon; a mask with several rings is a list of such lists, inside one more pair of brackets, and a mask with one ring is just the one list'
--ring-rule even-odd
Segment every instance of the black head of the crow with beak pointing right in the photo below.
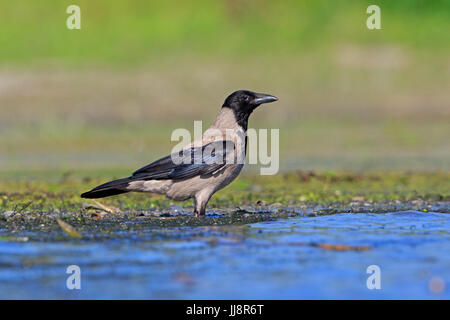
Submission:
{"label": "black head of the crow with beak pointing right", "polygon": [[259,105],[277,101],[278,98],[270,94],[256,93],[248,90],[238,90],[230,94],[222,108],[233,110],[236,121],[247,130],[248,117]]}

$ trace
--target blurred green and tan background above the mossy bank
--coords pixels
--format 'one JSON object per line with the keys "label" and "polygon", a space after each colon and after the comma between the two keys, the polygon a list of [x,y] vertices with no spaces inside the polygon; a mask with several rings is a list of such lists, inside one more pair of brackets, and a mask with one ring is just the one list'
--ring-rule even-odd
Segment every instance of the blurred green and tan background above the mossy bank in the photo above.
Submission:
{"label": "blurred green and tan background above the mossy bank", "polygon": [[250,127],[282,170],[448,171],[449,30],[450,1],[1,1],[0,171],[131,171],[237,89],[280,98]]}

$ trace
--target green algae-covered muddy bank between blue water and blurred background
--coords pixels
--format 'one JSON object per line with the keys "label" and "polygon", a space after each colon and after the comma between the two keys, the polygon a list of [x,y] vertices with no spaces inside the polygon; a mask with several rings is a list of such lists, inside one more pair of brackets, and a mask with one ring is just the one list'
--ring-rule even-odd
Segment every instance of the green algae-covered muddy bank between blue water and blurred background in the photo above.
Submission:
{"label": "green algae-covered muddy bank between blue water and blurred background", "polygon": [[[149,228],[246,225],[298,216],[333,213],[386,213],[405,210],[449,213],[447,173],[298,171],[273,177],[245,175],[219,191],[206,217],[193,217],[192,202],[158,195],[128,194],[95,203],[79,194],[108,178],[53,174],[0,184],[2,240],[70,239],[58,219],[85,240],[139,237]],[[113,178],[112,176],[110,178]],[[67,231],[67,230],[66,230]],[[118,231],[121,231],[118,233]]]}

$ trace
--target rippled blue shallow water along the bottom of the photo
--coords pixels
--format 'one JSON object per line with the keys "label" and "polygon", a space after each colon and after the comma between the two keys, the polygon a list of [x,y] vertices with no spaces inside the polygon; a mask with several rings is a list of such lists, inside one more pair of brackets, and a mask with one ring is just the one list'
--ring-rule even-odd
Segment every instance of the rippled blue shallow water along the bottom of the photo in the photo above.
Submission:
{"label": "rippled blue shallow water along the bottom of the photo", "polygon": [[[449,214],[333,214],[117,233],[95,242],[0,241],[0,298],[450,298]],[[81,290],[66,288],[73,264]],[[370,265],[380,267],[380,290],[366,286]]]}

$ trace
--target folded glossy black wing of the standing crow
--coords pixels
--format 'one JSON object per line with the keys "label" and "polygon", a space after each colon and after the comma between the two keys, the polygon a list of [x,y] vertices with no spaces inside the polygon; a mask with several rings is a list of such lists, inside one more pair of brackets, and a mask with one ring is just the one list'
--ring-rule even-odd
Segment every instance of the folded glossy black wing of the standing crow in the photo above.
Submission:
{"label": "folded glossy black wing of the standing crow", "polygon": [[202,147],[184,149],[135,171],[131,178],[184,180],[207,175],[223,168],[230,156],[234,159],[234,149],[234,143],[230,140],[214,141]]}

